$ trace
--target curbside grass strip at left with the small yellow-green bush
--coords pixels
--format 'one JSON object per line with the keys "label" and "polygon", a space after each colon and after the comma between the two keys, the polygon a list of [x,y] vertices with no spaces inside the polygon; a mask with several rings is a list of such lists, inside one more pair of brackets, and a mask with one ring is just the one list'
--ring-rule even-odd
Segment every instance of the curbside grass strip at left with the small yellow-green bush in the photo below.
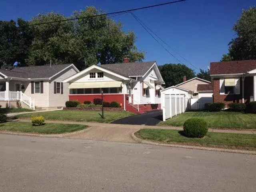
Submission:
{"label": "curbside grass strip at left with the small yellow-green bush", "polygon": [[0,124],[0,131],[12,131],[38,134],[62,134],[85,129],[86,125],[47,123],[41,126],[32,126],[32,123],[6,122]]}

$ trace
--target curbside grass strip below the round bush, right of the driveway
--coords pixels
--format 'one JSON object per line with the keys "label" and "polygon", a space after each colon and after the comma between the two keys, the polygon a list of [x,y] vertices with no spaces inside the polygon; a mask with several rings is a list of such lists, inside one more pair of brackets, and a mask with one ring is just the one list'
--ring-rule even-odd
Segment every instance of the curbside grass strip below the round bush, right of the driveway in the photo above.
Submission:
{"label": "curbside grass strip below the round bush, right of the driveway", "polygon": [[256,134],[208,132],[204,138],[188,138],[183,136],[183,131],[178,130],[141,129],[135,135],[138,138],[166,144],[256,150]]}

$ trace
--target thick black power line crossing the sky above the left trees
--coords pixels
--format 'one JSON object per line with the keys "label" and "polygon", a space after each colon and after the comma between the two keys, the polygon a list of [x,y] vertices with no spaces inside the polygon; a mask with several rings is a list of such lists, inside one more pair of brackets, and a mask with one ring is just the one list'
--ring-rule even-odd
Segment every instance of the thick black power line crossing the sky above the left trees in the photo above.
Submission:
{"label": "thick black power line crossing the sky above the left trees", "polygon": [[93,18],[93,17],[98,17],[98,16],[107,16],[107,15],[119,14],[119,13],[126,13],[126,12],[131,12],[131,11],[136,11],[136,10],[142,10],[142,9],[157,7],[157,6],[163,6],[163,5],[167,5],[167,4],[174,4],[174,3],[183,2],[183,1],[186,1],[186,0],[176,0],[176,1],[172,1],[172,2],[167,2],[167,3],[162,3],[162,4],[155,4],[155,5],[151,5],[151,6],[134,8],[134,9],[124,10],[124,11],[117,11],[117,12],[112,12],[112,13],[104,13],[104,14],[98,14],[98,15],[92,15],[92,16],[76,17],[76,18],[70,18],[70,19],[64,19],[64,20],[37,23],[37,24],[26,25],[26,26],[23,26],[23,27],[44,25],[44,24],[52,24],[52,23],[56,23],[56,22],[65,22],[65,21],[72,21],[72,20],[79,20],[79,19],[86,19],[86,18]]}

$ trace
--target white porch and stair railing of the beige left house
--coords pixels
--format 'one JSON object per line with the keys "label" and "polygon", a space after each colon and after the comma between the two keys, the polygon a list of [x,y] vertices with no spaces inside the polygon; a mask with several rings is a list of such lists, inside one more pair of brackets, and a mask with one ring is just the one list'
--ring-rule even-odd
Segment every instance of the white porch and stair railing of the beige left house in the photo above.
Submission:
{"label": "white porch and stair railing of the beige left house", "polygon": [[1,91],[0,92],[0,100],[4,101],[13,101],[13,100],[20,100],[28,105],[30,108],[35,109],[35,101],[32,100],[30,96],[25,95],[21,91]]}

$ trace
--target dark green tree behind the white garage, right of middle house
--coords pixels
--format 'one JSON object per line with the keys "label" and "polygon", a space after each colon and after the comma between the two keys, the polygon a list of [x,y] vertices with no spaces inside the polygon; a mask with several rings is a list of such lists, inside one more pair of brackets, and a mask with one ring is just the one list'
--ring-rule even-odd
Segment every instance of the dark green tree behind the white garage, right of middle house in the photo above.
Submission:
{"label": "dark green tree behind the white garage, right of middle house", "polygon": [[195,77],[195,72],[184,64],[164,64],[158,68],[164,79],[165,87],[182,83],[184,76],[187,80]]}

